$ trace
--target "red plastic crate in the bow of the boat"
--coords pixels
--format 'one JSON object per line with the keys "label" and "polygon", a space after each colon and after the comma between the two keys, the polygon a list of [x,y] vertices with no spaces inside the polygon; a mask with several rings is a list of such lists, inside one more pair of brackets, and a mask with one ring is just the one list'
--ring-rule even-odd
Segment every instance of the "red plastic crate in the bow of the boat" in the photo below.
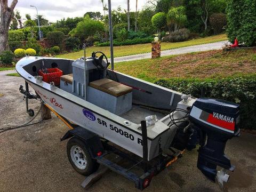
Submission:
{"label": "red plastic crate in the bow of the boat", "polygon": [[47,69],[48,73],[44,73],[42,69],[39,69],[39,76],[43,77],[43,81],[46,83],[54,82],[55,85],[60,84],[60,76],[63,75],[62,70],[58,68]]}

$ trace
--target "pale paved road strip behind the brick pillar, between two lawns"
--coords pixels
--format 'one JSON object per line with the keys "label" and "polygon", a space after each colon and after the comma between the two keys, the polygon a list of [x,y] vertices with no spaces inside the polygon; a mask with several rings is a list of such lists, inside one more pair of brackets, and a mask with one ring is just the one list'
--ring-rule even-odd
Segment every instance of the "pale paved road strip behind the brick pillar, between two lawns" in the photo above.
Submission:
{"label": "pale paved road strip behind the brick pillar, between two lawns", "polygon": [[[221,49],[221,46],[224,43],[227,43],[227,41],[221,41],[221,42],[216,42],[216,43],[207,43],[207,44],[202,44],[202,45],[193,45],[193,46],[181,47],[178,49],[165,50],[165,51],[161,52],[161,56],[182,54],[182,53],[191,53],[191,52],[198,52],[198,51],[219,50],[219,49]],[[114,62],[133,61],[133,60],[148,59],[148,58],[151,58],[151,53],[142,53],[142,54],[128,55],[128,56],[124,56],[124,57],[117,57],[117,58],[114,58]]]}

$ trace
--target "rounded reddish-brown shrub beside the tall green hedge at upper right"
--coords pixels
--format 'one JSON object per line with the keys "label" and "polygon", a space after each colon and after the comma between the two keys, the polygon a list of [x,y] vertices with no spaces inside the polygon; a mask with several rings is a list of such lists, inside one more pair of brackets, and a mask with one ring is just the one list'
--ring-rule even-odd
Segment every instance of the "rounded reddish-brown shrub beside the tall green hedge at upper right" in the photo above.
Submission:
{"label": "rounded reddish-brown shrub beside the tall green hedge at upper right", "polygon": [[213,13],[210,16],[210,25],[213,28],[214,34],[220,34],[224,27],[227,25],[226,14],[224,13]]}

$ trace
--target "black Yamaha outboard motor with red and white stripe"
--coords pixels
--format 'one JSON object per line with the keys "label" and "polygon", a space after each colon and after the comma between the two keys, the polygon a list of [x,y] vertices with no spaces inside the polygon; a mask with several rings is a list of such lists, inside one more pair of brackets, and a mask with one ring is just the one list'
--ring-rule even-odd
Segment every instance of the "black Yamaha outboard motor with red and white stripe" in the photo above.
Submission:
{"label": "black Yamaha outboard motor with red and white stripe", "polygon": [[227,140],[238,137],[240,133],[239,105],[217,99],[197,99],[191,108],[189,120],[192,127],[201,130],[198,169],[212,181],[215,181],[217,166],[233,171],[235,167],[230,164],[224,151]]}

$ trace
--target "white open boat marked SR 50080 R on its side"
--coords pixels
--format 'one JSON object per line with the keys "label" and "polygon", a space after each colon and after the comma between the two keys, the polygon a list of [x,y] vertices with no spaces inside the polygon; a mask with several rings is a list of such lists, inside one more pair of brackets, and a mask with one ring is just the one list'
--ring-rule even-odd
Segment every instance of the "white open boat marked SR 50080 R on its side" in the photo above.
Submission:
{"label": "white open boat marked SR 50080 R on its side", "polygon": [[[193,106],[196,99],[108,69],[109,63],[105,62],[103,57],[106,58],[104,54],[96,57],[94,53],[92,57],[85,60],[80,58],[75,61],[26,57],[17,63],[16,70],[33,87],[43,102],[58,114],[139,157],[145,156],[143,156],[141,121],[146,120],[147,161],[163,155],[163,151],[171,147],[180,150],[190,144],[190,147],[195,147],[198,134],[194,135],[194,142],[191,143],[191,135],[194,134],[191,130],[196,130],[195,132],[198,130],[190,126],[193,119],[195,125],[199,122],[204,125],[204,128],[210,126],[210,130],[214,129],[213,134],[217,132],[220,135],[228,135],[230,138],[230,135],[233,137],[237,134],[236,124],[233,127],[233,122],[230,123],[231,129],[230,127],[227,129],[226,124],[222,126],[209,123],[207,119],[201,118],[204,108]],[[61,71],[62,74],[54,77],[50,69]],[[39,76],[42,73],[55,79],[46,81],[42,75]],[[223,102],[217,100],[206,101],[217,102],[217,106],[223,105]],[[170,110],[172,110],[170,114],[166,112]],[[190,122],[188,121],[189,113]],[[202,130],[210,137],[210,132]],[[205,153],[202,152],[202,154]],[[214,158],[218,159],[216,156]],[[203,156],[201,159],[204,160],[203,162],[208,161]],[[201,162],[201,164],[204,163]],[[231,169],[231,165],[224,166],[223,162],[213,164]],[[230,164],[230,161],[227,164]],[[199,169],[208,177],[209,170],[205,167],[207,165],[204,167],[202,165]],[[214,170],[214,167],[212,169]],[[211,175],[215,177],[216,173]]]}

